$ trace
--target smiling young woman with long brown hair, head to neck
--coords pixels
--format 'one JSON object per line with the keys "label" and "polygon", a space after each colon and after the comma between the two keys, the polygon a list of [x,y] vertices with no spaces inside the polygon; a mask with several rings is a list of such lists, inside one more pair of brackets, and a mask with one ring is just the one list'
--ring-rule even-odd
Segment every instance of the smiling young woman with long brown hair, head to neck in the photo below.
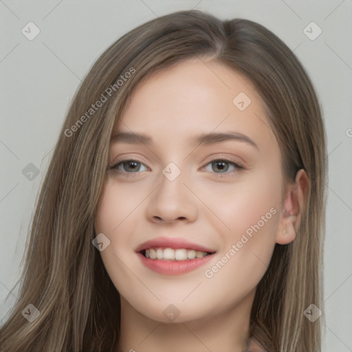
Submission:
{"label": "smiling young woman with long brown hair, head to neck", "polygon": [[325,140],[262,25],[122,36],[67,114],[1,351],[320,351]]}

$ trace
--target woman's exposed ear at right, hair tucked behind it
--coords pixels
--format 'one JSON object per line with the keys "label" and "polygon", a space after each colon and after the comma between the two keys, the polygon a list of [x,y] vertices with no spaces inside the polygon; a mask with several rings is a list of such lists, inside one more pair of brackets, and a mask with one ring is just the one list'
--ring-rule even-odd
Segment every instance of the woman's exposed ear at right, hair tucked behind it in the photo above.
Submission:
{"label": "woman's exposed ear at right, hair tucked behind it", "polygon": [[288,184],[283,199],[283,210],[276,233],[276,243],[286,245],[296,238],[296,232],[300,228],[303,210],[305,207],[305,195],[309,190],[309,180],[303,168],[298,170],[294,184]]}

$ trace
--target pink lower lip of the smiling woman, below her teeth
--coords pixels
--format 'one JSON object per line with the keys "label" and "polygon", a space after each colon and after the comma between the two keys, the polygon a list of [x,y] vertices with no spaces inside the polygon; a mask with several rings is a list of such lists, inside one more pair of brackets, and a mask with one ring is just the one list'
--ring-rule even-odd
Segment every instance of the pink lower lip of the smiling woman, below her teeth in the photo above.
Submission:
{"label": "pink lower lip of the smiling woman, below her teeth", "polygon": [[214,254],[203,256],[203,258],[188,259],[186,261],[168,261],[166,259],[146,258],[142,253],[137,253],[142,263],[148,269],[163,275],[181,275],[196,270],[201,265],[208,263]]}

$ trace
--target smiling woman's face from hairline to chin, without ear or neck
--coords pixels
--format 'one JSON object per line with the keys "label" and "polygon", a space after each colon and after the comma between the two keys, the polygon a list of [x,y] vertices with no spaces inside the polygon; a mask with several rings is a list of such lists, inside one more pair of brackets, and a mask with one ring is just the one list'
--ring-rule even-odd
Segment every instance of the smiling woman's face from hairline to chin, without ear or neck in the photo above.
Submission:
{"label": "smiling woman's face from hairline to chin, without ear or neck", "polygon": [[254,85],[215,61],[180,63],[135,91],[122,132],[95,227],[125,305],[164,322],[251,305],[283,200],[280,149]]}

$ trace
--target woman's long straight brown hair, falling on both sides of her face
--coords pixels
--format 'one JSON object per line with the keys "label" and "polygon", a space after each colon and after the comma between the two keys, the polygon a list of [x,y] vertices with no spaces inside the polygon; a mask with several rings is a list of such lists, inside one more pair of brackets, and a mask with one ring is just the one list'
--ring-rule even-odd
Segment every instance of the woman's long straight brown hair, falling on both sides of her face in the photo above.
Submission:
{"label": "woman's long straight brown hair, falling on both sides of her face", "polygon": [[[323,309],[327,155],[314,87],[298,58],[270,30],[197,10],[168,14],[125,34],[78,89],[36,204],[19,300],[0,330],[1,351],[117,346],[120,296],[92,245],[111,132],[137,85],[196,56],[215,59],[254,83],[281,148],[285,181],[293,181],[300,168],[307,172],[300,230],[292,243],[274,249],[256,289],[251,329],[272,351],[320,351],[322,319],[311,322],[304,315],[311,304]],[[22,314],[30,304],[40,311],[32,322]]]}

